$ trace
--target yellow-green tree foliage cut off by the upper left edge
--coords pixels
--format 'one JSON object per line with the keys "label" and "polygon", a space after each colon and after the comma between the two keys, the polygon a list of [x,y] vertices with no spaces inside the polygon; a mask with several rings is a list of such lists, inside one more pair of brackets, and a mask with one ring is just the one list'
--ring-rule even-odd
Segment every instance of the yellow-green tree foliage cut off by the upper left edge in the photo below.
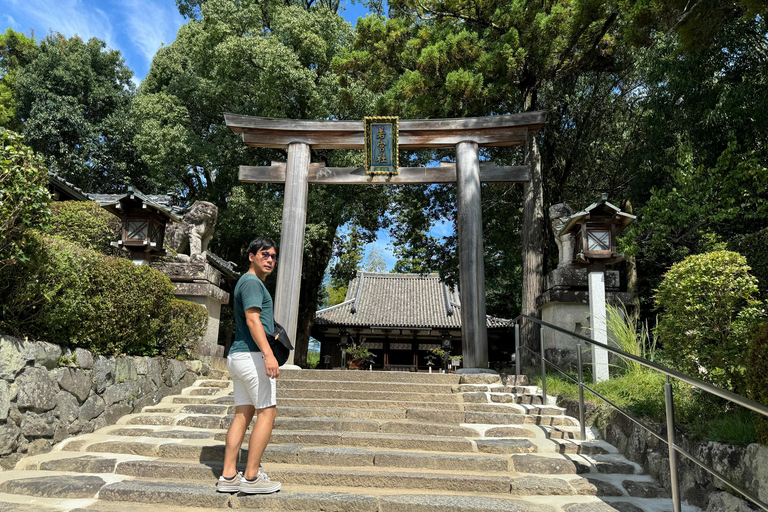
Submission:
{"label": "yellow-green tree foliage cut off by the upper left edge", "polygon": [[16,75],[38,54],[37,41],[13,29],[0,34],[0,126],[21,132],[22,125],[16,115]]}

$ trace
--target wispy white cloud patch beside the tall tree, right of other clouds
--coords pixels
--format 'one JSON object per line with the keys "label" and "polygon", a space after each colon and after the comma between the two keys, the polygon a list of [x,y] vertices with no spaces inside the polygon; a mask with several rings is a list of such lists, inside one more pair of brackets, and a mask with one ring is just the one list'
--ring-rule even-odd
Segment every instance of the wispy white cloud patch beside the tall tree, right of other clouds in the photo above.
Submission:
{"label": "wispy white cloud patch beside the tall tree, right of other clouds", "polygon": [[184,18],[173,2],[123,0],[122,6],[127,21],[126,36],[149,66],[160,46],[176,39]]}

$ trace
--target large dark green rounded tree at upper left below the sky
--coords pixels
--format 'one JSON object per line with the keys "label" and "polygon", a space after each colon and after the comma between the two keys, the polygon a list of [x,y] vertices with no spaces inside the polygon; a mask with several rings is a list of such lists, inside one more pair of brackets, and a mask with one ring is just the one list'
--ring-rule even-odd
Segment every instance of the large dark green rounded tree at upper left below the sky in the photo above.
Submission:
{"label": "large dark green rounded tree at upper left below the sky", "polygon": [[27,144],[89,192],[149,191],[128,119],[133,72],[104,41],[50,34],[15,73],[15,115]]}

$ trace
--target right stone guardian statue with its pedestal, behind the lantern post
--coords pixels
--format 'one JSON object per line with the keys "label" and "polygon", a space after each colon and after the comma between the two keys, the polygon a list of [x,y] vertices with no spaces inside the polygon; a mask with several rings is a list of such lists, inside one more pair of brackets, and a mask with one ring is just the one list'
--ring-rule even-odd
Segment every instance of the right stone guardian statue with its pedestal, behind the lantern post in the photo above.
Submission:
{"label": "right stone guardian statue with its pedestal, behind the lantern post", "polygon": [[[573,209],[565,203],[559,203],[549,209],[552,229],[557,233],[563,219],[573,215]],[[557,325],[584,336],[589,335],[589,291],[587,269],[573,266],[575,241],[571,233],[557,236],[555,242],[559,249],[557,268],[544,278],[544,292],[536,298],[536,308],[541,311],[544,322]],[[606,301],[612,306],[631,304],[632,294],[620,291],[619,272],[605,272]],[[609,331],[609,340],[612,335]],[[576,339],[552,329],[544,329],[544,347],[548,360],[558,366],[569,368],[576,365]],[[592,361],[592,350],[582,344],[583,362]]]}

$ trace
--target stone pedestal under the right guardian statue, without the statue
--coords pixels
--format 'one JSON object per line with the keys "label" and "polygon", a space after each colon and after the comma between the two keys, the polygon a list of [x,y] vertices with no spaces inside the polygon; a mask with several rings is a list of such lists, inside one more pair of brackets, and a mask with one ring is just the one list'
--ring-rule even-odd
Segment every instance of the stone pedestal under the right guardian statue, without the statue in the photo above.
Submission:
{"label": "stone pedestal under the right guardian statue, without the statue", "polygon": [[[612,306],[631,304],[632,294],[619,291],[619,272],[605,272],[605,299]],[[536,308],[544,322],[594,338],[590,333],[589,282],[586,269],[562,266],[547,274],[544,293],[536,298]],[[608,331],[608,343],[613,335]],[[573,336],[544,329],[544,347],[548,360],[564,369],[576,368],[576,343]],[[592,347],[582,343],[582,361],[591,364]]]}

